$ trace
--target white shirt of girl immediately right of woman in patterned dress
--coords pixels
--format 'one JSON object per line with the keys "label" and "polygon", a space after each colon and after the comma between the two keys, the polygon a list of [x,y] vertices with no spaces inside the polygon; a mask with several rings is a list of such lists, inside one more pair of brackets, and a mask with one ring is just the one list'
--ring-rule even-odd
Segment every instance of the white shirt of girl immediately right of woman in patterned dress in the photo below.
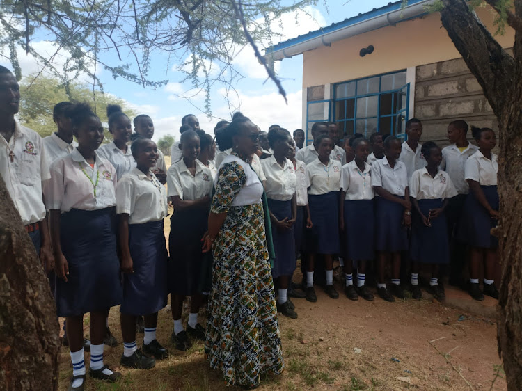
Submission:
{"label": "white shirt of girl immediately right of woman in patterned dress", "polygon": [[263,159],[261,166],[267,177],[267,182],[264,184],[267,197],[278,201],[292,200],[297,182],[292,161],[285,159],[283,167],[281,167],[276,158],[271,156]]}

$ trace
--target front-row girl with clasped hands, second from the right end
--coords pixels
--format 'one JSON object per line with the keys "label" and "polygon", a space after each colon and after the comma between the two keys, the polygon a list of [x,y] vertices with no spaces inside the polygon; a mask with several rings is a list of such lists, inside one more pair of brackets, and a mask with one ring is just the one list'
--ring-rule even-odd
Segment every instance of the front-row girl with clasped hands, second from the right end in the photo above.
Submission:
{"label": "front-row girl with clasped hands, second from the right end", "polygon": [[413,172],[409,183],[410,200],[416,214],[411,230],[411,287],[413,298],[422,297],[418,285],[420,263],[432,269],[429,293],[437,299],[445,298],[443,285],[438,285],[438,268],[450,262],[448,227],[445,209],[448,201],[457,196],[450,175],[438,166],[442,161],[441,148],[433,141],[422,144],[427,166]]}

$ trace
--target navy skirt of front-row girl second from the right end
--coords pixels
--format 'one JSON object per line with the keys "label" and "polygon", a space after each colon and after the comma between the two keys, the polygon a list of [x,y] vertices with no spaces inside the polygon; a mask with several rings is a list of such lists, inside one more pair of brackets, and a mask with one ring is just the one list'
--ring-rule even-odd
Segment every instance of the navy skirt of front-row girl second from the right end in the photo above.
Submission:
{"label": "navy skirt of front-row girl second from the right end", "polygon": [[[438,209],[443,200],[418,200],[419,209],[426,217],[430,209]],[[450,263],[450,245],[448,243],[448,224],[443,212],[437,218],[430,219],[431,227],[422,223],[419,214],[413,214],[411,223],[410,258],[426,264]]]}

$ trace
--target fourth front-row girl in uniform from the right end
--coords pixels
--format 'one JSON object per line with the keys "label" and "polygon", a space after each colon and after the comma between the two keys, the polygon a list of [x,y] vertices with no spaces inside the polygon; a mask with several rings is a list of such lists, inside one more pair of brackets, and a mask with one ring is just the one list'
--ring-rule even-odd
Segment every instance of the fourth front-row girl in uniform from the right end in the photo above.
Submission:
{"label": "fourth front-row girl in uniform from the right end", "polygon": [[[355,159],[342,166],[340,196],[340,230],[345,233],[345,294],[350,300],[373,300],[365,285],[366,262],[373,260],[374,250],[374,191],[371,166],[366,163],[370,143],[357,138],[351,147]],[[357,288],[354,286],[354,261],[357,267]]]}

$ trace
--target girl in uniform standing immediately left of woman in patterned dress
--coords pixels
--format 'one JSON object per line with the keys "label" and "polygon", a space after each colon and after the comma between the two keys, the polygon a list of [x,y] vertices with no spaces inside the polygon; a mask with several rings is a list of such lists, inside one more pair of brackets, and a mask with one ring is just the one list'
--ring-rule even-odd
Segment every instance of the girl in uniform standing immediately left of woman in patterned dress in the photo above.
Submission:
{"label": "girl in uniform standing immediately left of woman in patterned dress", "polygon": [[[201,238],[207,231],[212,194],[212,173],[198,161],[200,138],[195,131],[185,131],[180,139],[183,157],[167,173],[168,197],[174,206],[168,248],[171,254],[171,304],[174,330],[171,342],[176,349],[190,348],[189,336],[205,340],[205,328],[198,323],[203,292],[209,292],[208,254],[201,251]],[[184,296],[191,296],[187,332],[181,321]]]}

